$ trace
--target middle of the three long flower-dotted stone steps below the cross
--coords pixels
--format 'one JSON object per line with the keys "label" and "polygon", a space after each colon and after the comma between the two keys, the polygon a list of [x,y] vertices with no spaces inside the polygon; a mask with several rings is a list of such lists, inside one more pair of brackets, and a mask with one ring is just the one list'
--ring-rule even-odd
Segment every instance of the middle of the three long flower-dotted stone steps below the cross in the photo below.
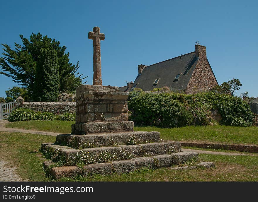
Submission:
{"label": "middle of the three long flower-dotted stone steps below the cross", "polygon": [[60,145],[45,145],[43,150],[45,153],[50,151],[48,157],[51,156],[52,160],[58,161],[62,159],[62,161],[65,161],[65,165],[76,165],[79,162],[86,164],[103,163],[142,156],[177,153],[181,151],[181,144],[180,142],[159,142],[85,148],[82,150]]}

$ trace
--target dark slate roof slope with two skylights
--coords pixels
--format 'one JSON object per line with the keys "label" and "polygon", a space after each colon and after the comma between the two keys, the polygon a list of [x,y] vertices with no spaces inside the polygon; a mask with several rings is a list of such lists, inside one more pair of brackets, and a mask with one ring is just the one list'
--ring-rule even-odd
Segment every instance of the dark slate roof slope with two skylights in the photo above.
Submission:
{"label": "dark slate roof slope with two skylights", "polygon": [[[133,83],[134,88],[149,91],[153,88],[168,86],[172,90],[185,90],[196,63],[195,52],[191,52],[147,66],[136,77]],[[175,80],[177,74],[180,74],[180,76]],[[153,86],[156,79],[159,79],[159,82]]]}

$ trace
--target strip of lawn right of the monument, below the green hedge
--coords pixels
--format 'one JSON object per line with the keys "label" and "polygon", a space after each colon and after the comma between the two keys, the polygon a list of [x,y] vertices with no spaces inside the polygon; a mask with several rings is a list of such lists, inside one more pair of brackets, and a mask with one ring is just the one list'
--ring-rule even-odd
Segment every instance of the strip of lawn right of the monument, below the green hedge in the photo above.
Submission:
{"label": "strip of lawn right of the monument, below the green hedge", "polygon": [[258,127],[186,126],[181,128],[134,127],[135,131],[159,131],[160,138],[173,141],[258,145]]}

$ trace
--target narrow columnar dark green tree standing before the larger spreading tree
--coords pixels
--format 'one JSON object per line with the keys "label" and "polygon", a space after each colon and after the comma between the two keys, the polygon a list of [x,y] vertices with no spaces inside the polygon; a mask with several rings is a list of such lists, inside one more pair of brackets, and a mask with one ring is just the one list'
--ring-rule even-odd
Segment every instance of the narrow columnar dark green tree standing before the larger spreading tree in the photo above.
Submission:
{"label": "narrow columnar dark green tree standing before the larger spreading tree", "polygon": [[42,48],[35,74],[33,100],[57,101],[59,85],[57,52],[53,48]]}

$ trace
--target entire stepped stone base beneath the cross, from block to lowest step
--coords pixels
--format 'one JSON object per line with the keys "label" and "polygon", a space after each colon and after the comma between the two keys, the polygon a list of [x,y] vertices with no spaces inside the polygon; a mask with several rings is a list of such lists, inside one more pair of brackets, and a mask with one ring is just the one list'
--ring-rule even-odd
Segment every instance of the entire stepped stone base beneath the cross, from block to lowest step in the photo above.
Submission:
{"label": "entire stepped stone base beneath the cross, from block to lowest step", "polygon": [[[72,134],[59,134],[55,143],[41,144],[43,153],[51,158],[44,168],[54,179],[156,169],[198,157],[198,153],[181,152],[180,142],[160,142],[159,132],[134,132],[127,116],[128,95],[111,86],[77,88]],[[56,162],[62,166],[55,167]]]}

